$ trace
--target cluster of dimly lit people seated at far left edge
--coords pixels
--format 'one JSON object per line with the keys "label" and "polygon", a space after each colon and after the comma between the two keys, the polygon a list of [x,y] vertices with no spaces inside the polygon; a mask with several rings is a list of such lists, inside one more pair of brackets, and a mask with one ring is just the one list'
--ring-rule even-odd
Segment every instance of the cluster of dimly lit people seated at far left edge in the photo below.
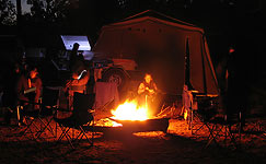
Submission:
{"label": "cluster of dimly lit people seated at far left edge", "polygon": [[15,63],[7,79],[2,96],[2,106],[8,109],[4,120],[7,124],[11,124],[12,113],[16,110],[19,105],[23,105],[24,109],[20,112],[19,121],[24,124],[23,114],[25,110],[39,109],[43,82],[38,77],[38,70],[34,66]]}

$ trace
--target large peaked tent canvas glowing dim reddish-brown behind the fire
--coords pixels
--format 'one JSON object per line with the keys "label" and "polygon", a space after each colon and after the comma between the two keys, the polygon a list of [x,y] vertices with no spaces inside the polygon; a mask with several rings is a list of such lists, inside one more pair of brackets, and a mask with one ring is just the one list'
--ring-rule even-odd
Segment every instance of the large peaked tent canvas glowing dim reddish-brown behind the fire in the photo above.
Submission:
{"label": "large peaked tent canvas glowing dim reddish-brown behind the fire", "polygon": [[218,95],[204,30],[195,25],[148,10],[103,26],[92,49],[96,57],[134,59],[138,70],[153,75],[159,89],[177,95],[185,83],[188,50],[193,87],[203,94]]}

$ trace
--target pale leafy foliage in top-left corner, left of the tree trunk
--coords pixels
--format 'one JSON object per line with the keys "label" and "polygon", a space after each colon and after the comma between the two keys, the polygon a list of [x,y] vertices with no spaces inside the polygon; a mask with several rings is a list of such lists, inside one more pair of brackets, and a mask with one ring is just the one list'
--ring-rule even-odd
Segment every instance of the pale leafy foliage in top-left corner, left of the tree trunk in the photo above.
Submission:
{"label": "pale leafy foliage in top-left corner, left of the tree trunk", "polygon": [[16,23],[15,7],[11,0],[0,0],[0,24],[14,25]]}

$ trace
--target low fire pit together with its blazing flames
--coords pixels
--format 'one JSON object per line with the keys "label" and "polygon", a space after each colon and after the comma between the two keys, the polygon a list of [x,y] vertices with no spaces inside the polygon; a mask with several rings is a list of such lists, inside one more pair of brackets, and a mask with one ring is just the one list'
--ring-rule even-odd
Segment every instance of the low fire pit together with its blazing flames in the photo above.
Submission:
{"label": "low fire pit together with its blazing flames", "polygon": [[126,101],[115,110],[111,112],[113,117],[100,120],[102,124],[95,126],[95,129],[99,129],[102,132],[112,129],[124,132],[166,132],[169,128],[170,118],[151,116],[149,107],[147,107],[147,105],[139,106],[136,101]]}

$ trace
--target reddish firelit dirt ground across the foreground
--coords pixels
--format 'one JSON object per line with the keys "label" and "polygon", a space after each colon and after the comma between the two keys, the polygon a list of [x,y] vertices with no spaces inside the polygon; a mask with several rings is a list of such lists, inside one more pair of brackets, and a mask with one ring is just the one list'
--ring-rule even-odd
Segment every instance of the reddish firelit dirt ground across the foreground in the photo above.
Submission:
{"label": "reddish firelit dirt ground across the foreground", "polygon": [[[51,126],[55,128],[55,122]],[[247,126],[248,128],[248,126]],[[251,126],[250,126],[251,128]],[[167,133],[162,131],[123,133],[97,132],[94,145],[85,140],[71,149],[67,140],[57,142],[49,131],[42,140],[16,136],[23,127],[0,127],[0,163],[265,163],[265,133],[243,133],[238,147],[219,141],[206,148],[206,127],[192,134],[184,119],[170,119]],[[60,131],[58,131],[60,133]],[[90,133],[89,133],[90,136]]]}

